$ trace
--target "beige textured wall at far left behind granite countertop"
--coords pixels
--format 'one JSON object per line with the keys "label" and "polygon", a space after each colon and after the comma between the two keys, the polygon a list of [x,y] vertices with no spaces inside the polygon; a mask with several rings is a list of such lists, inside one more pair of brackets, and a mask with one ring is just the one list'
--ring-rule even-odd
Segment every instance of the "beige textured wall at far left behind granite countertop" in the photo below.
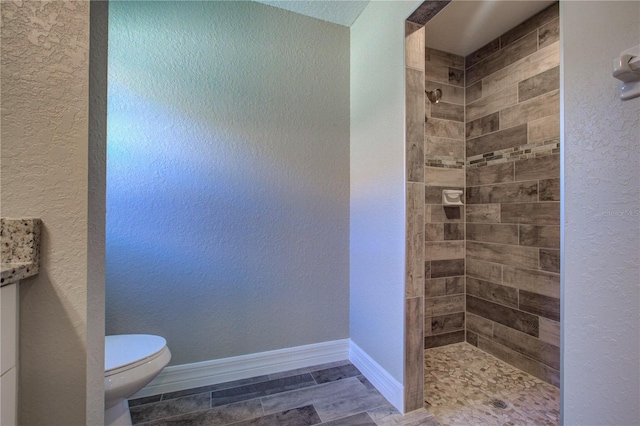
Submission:
{"label": "beige textured wall at far left behind granite countertop", "polygon": [[92,387],[88,407],[87,355],[93,382],[104,361],[102,339],[87,354],[87,334],[103,335],[104,298],[87,280],[100,277],[104,239],[88,218],[103,210],[104,186],[94,176],[89,196],[89,3],[1,7],[2,216],[43,222],[40,273],[20,286],[19,423],[95,424],[102,389]]}

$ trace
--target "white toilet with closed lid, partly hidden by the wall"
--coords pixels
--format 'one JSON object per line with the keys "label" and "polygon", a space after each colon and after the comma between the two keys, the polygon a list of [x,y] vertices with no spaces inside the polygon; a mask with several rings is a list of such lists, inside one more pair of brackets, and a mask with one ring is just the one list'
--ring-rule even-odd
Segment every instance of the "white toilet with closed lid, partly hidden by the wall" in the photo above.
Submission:
{"label": "white toilet with closed lid, partly hidden by the wall", "polygon": [[127,398],[169,363],[167,341],[148,334],[106,336],[104,352],[104,424],[131,426]]}

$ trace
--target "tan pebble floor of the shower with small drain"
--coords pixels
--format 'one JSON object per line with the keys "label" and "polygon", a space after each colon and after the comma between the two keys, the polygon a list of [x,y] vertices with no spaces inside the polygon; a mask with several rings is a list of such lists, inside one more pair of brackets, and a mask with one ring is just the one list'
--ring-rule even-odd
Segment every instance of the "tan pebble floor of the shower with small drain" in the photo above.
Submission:
{"label": "tan pebble floor of the shower with small drain", "polygon": [[[557,425],[560,391],[468,343],[425,351],[425,407],[446,425]],[[506,404],[498,408],[495,400]]]}

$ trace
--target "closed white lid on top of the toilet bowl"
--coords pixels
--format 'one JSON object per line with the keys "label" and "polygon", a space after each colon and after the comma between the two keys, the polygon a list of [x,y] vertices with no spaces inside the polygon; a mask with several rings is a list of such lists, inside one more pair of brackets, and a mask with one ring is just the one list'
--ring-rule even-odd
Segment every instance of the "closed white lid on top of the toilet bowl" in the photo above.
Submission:
{"label": "closed white lid on top of the toilet bowl", "polygon": [[124,367],[162,350],[167,341],[150,334],[120,334],[104,340],[104,371]]}

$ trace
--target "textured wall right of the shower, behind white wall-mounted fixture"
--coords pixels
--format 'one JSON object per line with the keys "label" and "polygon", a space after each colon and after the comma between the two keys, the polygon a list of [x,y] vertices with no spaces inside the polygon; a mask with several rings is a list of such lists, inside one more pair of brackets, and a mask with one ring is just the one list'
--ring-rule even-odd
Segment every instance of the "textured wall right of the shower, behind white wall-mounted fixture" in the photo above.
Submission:
{"label": "textured wall right of the shower, behind white wall-mounted fixture", "polygon": [[640,424],[640,98],[611,60],[640,42],[640,2],[560,3],[562,423]]}

